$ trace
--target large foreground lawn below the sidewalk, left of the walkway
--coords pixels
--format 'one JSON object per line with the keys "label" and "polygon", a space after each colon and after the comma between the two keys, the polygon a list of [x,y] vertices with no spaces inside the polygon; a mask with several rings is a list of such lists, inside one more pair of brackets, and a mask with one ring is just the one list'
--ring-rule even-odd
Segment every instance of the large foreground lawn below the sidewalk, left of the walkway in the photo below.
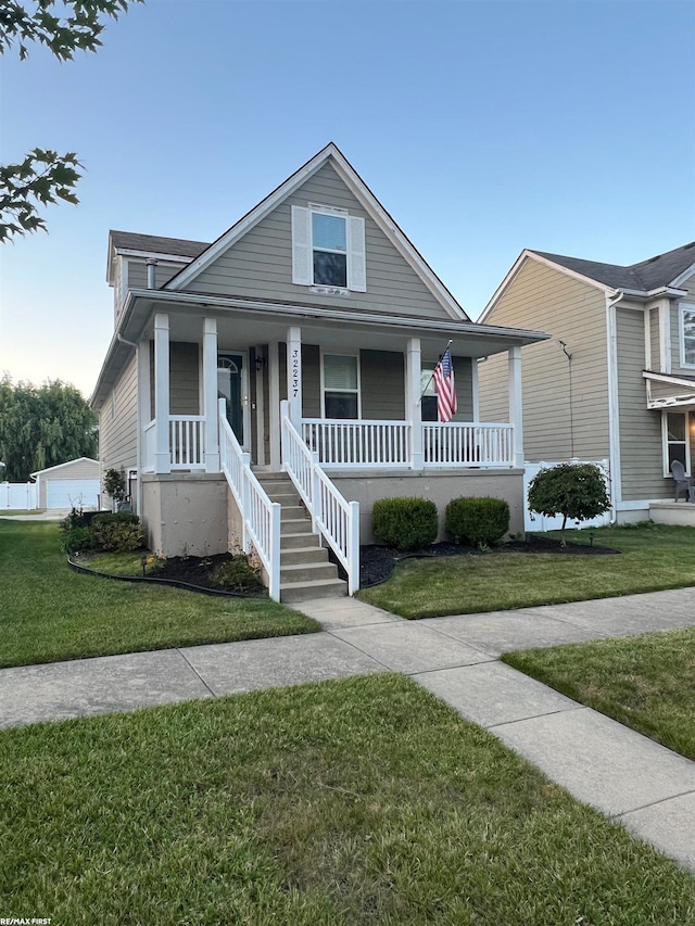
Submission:
{"label": "large foreground lawn below the sidewalk, left of the walkway", "polygon": [[685,924],[695,878],[412,681],[0,734],[0,896],[100,926]]}

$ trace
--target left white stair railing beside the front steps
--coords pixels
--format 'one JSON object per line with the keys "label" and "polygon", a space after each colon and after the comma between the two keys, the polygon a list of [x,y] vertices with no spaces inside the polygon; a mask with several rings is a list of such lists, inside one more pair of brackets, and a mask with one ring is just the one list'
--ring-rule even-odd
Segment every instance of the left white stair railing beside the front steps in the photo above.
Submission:
{"label": "left white stair railing beside the front steps", "polygon": [[227,421],[225,399],[219,399],[219,462],[243,523],[241,545],[255,548],[268,573],[268,594],[280,600],[280,508],[270,502],[251,471],[251,455],[244,453]]}

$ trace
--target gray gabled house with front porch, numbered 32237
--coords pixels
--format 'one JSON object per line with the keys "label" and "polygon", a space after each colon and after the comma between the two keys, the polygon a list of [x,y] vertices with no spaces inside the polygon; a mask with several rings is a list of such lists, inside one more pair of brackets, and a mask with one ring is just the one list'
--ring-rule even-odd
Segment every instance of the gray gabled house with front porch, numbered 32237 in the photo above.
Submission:
{"label": "gray gabled house with front porch, numbered 32237", "polygon": [[[253,546],[289,600],[344,594],[319,543],[358,586],[376,498],[496,495],[522,530],[520,348],[546,335],[470,321],[336,145],[212,244],[112,231],[108,280],[101,464],[153,549]],[[476,361],[497,353],[511,398],[483,424]]]}

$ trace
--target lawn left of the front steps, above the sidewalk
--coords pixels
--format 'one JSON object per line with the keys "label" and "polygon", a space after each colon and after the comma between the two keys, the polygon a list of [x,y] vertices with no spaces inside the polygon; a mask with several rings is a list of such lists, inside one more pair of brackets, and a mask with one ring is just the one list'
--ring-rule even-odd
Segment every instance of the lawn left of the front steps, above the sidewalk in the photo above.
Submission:
{"label": "lawn left of the front steps, above the sidewalk", "polygon": [[55,522],[0,518],[0,668],[320,630],[268,599],[73,572]]}

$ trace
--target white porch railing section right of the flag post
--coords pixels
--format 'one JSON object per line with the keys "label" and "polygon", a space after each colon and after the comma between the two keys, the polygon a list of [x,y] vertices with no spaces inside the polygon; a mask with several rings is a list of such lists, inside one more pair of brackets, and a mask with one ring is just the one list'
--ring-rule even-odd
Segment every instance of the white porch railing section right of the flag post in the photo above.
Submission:
{"label": "white porch railing section right of the flag post", "polygon": [[422,424],[426,467],[514,466],[514,426]]}

